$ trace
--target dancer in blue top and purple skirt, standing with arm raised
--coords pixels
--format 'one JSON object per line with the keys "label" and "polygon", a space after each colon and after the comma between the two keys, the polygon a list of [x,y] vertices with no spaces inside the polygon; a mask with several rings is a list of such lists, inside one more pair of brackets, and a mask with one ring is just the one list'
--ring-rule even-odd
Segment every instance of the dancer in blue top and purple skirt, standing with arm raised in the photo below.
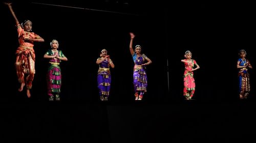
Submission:
{"label": "dancer in blue top and purple skirt, standing with arm raised", "polygon": [[134,33],[130,33],[130,52],[133,56],[134,61],[134,70],[133,70],[133,84],[135,91],[135,100],[142,100],[143,95],[146,92],[147,88],[147,75],[145,68],[147,65],[150,65],[152,61],[147,58],[145,54],[141,54],[141,46],[136,45],[135,51],[133,49],[133,40],[135,38]]}

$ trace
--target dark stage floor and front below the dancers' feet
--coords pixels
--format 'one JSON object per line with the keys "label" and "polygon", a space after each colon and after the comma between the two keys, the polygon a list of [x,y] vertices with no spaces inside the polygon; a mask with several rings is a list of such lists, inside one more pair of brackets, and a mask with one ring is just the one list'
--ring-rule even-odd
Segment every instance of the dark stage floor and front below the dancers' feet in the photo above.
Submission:
{"label": "dark stage floor and front below the dancers' feet", "polygon": [[254,101],[1,103],[0,142],[247,142]]}

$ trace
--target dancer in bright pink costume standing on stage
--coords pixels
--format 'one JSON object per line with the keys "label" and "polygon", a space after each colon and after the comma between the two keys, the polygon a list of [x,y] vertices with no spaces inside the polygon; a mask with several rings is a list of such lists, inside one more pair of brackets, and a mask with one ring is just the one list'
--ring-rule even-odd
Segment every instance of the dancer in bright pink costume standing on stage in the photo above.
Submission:
{"label": "dancer in bright pink costume standing on stage", "polygon": [[[194,79],[194,72],[195,70],[199,69],[199,65],[197,64],[196,60],[191,59],[192,53],[190,51],[185,52],[184,60],[181,60],[185,64],[185,71],[184,71],[184,89],[183,89],[183,96],[185,99],[190,100],[195,94],[196,90],[196,83]],[[194,69],[194,66],[197,66]]]}

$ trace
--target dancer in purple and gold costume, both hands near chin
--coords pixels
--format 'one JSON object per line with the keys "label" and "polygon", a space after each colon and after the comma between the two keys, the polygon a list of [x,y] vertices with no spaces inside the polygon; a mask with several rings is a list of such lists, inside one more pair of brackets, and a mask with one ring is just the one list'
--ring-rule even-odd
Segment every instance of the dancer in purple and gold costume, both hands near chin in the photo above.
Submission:
{"label": "dancer in purple and gold costume, both hands near chin", "polygon": [[109,99],[111,87],[110,67],[114,68],[115,65],[106,49],[101,50],[100,58],[97,59],[96,64],[99,65],[97,80],[100,100],[106,101]]}

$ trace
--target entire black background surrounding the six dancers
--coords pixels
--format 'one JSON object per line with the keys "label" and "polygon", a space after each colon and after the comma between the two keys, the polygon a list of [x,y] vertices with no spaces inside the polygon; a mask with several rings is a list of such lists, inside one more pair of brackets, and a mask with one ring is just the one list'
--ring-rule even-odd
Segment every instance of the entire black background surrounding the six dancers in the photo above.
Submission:
{"label": "entire black background surrounding the six dancers", "polygon": [[[251,93],[242,101],[236,68],[240,49],[255,65],[252,4],[13,1],[12,7],[19,22],[31,20],[33,32],[45,42],[34,46],[36,74],[28,99],[17,91],[15,21],[1,4],[5,142],[229,142],[255,135],[255,71],[249,70]],[[136,35],[134,46],[141,45],[153,61],[142,102],[134,102],[129,32]],[[61,63],[61,101],[53,103],[47,101],[43,58],[52,39],[69,60]],[[95,62],[103,48],[115,64],[108,102],[99,101],[97,89]],[[200,66],[193,101],[182,96],[180,60],[186,50]]]}

